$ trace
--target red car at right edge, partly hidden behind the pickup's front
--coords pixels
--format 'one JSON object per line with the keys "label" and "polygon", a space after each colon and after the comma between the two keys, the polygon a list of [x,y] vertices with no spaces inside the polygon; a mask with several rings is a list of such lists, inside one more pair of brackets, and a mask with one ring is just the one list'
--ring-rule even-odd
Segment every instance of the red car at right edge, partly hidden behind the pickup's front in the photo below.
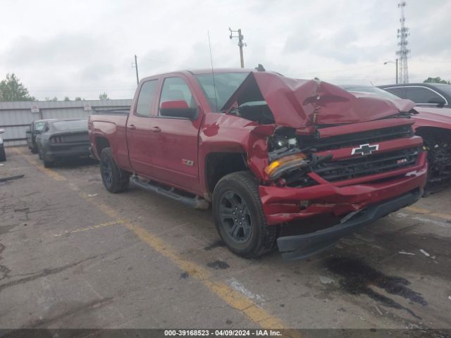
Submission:
{"label": "red car at right edge, partly hidden behind the pickup's front", "polygon": [[[343,85],[354,93],[374,94],[389,100],[400,98],[378,87]],[[437,192],[451,183],[451,108],[416,106],[412,115],[414,132],[423,137],[428,150],[429,175],[426,194]]]}

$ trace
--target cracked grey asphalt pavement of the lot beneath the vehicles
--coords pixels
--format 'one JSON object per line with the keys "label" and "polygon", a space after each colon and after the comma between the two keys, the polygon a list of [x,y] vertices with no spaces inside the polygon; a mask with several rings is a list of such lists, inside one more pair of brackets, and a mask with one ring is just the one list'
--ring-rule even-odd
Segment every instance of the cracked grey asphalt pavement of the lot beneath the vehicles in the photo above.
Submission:
{"label": "cracked grey asphalt pavement of the lot beneath the vehicles", "polygon": [[0,327],[451,328],[451,189],[307,260],[247,260],[210,211],[6,150]]}

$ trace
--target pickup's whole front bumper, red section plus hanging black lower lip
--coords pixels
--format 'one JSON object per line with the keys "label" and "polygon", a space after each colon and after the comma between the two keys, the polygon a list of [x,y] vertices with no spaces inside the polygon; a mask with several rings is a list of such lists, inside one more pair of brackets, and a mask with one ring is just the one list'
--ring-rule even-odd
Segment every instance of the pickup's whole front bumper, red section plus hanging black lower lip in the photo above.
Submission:
{"label": "pickup's whole front bumper, red section plus hanging black lower lip", "polygon": [[311,187],[260,186],[259,192],[268,225],[321,214],[341,218],[338,225],[323,230],[278,238],[284,259],[301,259],[332,246],[358,227],[414,204],[423,194],[427,171],[426,152],[422,152],[416,165],[409,168],[347,182],[316,177],[318,184]]}

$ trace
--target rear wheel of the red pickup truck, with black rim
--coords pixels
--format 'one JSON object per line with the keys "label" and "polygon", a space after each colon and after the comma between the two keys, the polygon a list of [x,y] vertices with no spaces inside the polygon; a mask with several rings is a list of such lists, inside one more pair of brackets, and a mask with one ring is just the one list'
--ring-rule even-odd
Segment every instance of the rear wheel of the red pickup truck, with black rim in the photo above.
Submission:
{"label": "rear wheel of the red pickup truck, with black rim", "polygon": [[105,189],[113,194],[123,192],[128,188],[130,173],[122,170],[113,158],[111,148],[105,148],[100,154],[100,174]]}

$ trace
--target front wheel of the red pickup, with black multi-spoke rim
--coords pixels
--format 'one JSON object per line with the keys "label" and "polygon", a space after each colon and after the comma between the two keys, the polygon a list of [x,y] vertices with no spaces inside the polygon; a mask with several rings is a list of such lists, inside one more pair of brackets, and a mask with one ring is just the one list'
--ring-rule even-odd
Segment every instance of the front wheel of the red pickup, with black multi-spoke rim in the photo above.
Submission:
{"label": "front wheel of the red pickup, with black multi-spoke rim", "polygon": [[224,176],[214,189],[212,207],[219,236],[233,253],[255,258],[275,246],[278,227],[266,223],[259,183],[252,173]]}

